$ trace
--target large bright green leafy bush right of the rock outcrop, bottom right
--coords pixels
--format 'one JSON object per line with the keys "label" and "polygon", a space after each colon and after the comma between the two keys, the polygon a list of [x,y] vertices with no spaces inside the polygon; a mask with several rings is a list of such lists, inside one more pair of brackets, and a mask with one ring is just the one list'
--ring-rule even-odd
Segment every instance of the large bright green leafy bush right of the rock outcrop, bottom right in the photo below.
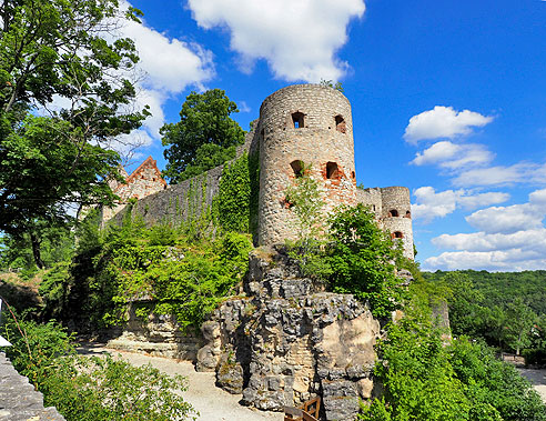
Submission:
{"label": "large bright green leafy bush right of the rock outcrop, bottom right", "polygon": [[[546,410],[514,367],[466,337],[445,342],[433,322],[423,285],[412,288],[405,317],[380,341],[375,375],[385,392],[361,420],[543,421]],[[417,293],[416,293],[417,292]],[[433,292],[435,293],[435,292]]]}

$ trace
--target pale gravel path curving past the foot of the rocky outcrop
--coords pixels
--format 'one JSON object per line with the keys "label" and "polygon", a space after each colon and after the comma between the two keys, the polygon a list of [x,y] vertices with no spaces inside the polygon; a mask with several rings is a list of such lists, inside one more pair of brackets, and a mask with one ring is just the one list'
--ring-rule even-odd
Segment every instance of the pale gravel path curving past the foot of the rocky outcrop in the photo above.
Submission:
{"label": "pale gravel path curving past the foot of the rocky outcrop", "polygon": [[188,391],[182,392],[184,400],[199,411],[200,421],[260,421],[283,420],[283,413],[264,412],[239,404],[241,394],[231,394],[214,385],[214,373],[196,372],[188,361],[176,361],[169,358],[149,357],[140,353],[105,349],[103,345],[84,344],[79,348],[82,354],[101,354],[110,352],[121,355],[133,365],[152,364],[168,374],[182,374],[188,379]]}

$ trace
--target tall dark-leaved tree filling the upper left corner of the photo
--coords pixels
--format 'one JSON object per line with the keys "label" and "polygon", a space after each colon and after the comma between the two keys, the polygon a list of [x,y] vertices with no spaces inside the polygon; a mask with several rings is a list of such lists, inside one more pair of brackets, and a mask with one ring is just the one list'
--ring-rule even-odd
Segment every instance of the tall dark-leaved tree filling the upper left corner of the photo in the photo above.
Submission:
{"label": "tall dark-leaved tree filling the upper left corner of the photo", "polygon": [[[65,224],[69,203],[111,204],[109,142],[140,127],[132,111],[131,40],[117,36],[118,0],[4,0],[0,37],[0,231],[27,233],[40,267],[37,224]],[[65,106],[49,111],[55,100]]]}

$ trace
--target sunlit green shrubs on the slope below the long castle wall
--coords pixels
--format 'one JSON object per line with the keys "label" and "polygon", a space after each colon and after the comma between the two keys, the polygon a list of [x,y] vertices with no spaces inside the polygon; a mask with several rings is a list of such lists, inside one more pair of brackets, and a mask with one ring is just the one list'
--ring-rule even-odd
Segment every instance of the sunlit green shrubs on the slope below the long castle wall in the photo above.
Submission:
{"label": "sunlit green shrubs on the slope below the long castle wall", "polygon": [[182,328],[199,328],[246,272],[250,250],[249,238],[234,232],[175,250],[151,245],[118,249],[109,270],[118,281],[112,301],[121,305],[118,313],[105,317],[119,322],[128,300],[148,294],[154,299],[149,311],[173,314]]}

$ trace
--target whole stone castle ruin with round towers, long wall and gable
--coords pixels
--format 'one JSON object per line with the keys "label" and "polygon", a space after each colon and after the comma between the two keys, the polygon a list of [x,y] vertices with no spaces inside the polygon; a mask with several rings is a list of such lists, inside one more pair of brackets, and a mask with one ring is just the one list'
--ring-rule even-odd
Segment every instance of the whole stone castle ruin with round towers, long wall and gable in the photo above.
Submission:
{"label": "whole stone castle ruin with round towers, long wall and gable", "polygon": [[[273,92],[263,101],[260,118],[237,156],[244,151],[260,157],[259,245],[296,238],[295,215],[285,191],[305,164],[318,183],[325,217],[340,204],[363,203],[375,213],[378,225],[402,242],[404,255],[414,258],[408,189],[356,187],[351,103],[342,92],[321,84],[294,84]],[[218,193],[221,174],[222,167],[198,177],[205,180],[205,206],[211,206]],[[146,223],[186,218],[194,214],[192,208],[203,206],[189,200],[195,183],[192,179],[168,187],[150,157],[117,187],[114,192],[122,202],[104,210],[103,220],[122,213],[120,210],[132,197],[139,199],[136,210]]]}

